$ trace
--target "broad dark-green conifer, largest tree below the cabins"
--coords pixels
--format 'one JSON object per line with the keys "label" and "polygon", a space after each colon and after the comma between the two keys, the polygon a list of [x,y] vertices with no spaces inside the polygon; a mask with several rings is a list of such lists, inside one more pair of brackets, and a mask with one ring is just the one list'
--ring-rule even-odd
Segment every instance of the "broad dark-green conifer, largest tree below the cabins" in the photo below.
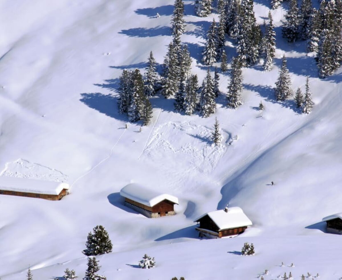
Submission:
{"label": "broad dark-green conifer, largest tree below the cabins", "polygon": [[93,228],[93,233],[89,232],[86,242],[86,249],[83,254],[86,256],[98,256],[110,253],[113,245],[108,236],[108,232],[101,225]]}

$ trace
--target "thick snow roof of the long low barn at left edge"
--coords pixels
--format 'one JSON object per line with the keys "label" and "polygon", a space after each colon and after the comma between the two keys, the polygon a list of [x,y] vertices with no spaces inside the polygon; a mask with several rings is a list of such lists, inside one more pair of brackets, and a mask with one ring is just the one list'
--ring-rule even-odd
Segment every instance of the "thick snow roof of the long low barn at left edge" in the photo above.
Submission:
{"label": "thick snow roof of the long low barn at left edge", "polygon": [[29,178],[0,176],[0,190],[3,191],[58,195],[64,188],[69,190],[69,184]]}

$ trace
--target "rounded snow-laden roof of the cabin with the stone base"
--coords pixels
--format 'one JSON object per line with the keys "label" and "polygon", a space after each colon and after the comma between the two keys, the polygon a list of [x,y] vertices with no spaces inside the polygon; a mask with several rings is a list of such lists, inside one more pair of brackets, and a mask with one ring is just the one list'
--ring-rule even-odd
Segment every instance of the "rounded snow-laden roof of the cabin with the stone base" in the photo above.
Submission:
{"label": "rounded snow-laden roof of the cabin with the stone base", "polygon": [[178,198],[173,195],[161,194],[135,183],[124,186],[120,191],[120,195],[149,207],[153,207],[165,199],[178,204]]}

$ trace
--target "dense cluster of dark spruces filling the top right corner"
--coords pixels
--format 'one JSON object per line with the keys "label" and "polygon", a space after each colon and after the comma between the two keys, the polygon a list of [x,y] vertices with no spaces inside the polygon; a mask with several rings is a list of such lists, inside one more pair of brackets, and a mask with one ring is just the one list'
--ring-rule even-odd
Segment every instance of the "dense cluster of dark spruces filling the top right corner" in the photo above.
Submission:
{"label": "dense cluster of dark spruces filling the top right corner", "polygon": [[333,74],[342,63],[342,0],[322,0],[318,10],[311,0],[290,0],[282,26],[289,42],[307,40],[307,50],[317,53],[319,76]]}

